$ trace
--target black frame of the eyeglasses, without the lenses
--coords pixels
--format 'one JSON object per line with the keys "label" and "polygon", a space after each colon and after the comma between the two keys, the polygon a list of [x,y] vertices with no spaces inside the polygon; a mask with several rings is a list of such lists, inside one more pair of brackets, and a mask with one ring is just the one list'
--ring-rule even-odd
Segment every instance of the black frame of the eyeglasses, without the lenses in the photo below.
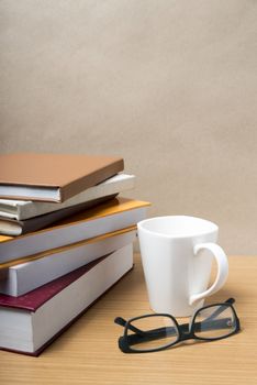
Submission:
{"label": "black frame of the eyeglasses, without the lenses", "polygon": [[[122,337],[119,338],[119,348],[121,349],[121,351],[123,353],[149,353],[149,352],[158,352],[165,349],[168,349],[170,346],[174,346],[175,344],[178,344],[182,341],[186,340],[190,340],[190,339],[194,339],[194,340],[202,340],[202,341],[217,341],[217,340],[223,340],[227,337],[231,337],[235,333],[237,333],[241,330],[241,322],[239,322],[239,318],[237,317],[237,314],[233,307],[232,304],[234,304],[235,299],[234,298],[230,298],[227,299],[225,302],[217,302],[217,304],[211,304],[211,305],[206,305],[201,307],[200,309],[198,309],[195,311],[195,314],[193,315],[193,318],[191,320],[190,323],[183,323],[183,324],[179,324],[177,319],[168,314],[150,314],[150,315],[144,315],[144,316],[139,316],[139,317],[134,317],[128,319],[127,321],[125,321],[123,318],[118,317],[115,318],[114,322],[123,326],[124,329],[124,334]],[[198,323],[202,323],[202,322],[194,322],[195,318],[198,317],[199,312],[208,309],[208,308],[212,308],[212,307],[221,307],[221,311],[224,311],[224,307],[226,308],[231,308],[233,315],[234,315],[234,320],[235,320],[235,329],[232,330],[226,336],[221,336],[221,337],[215,337],[215,338],[204,338],[204,337],[199,337],[195,336],[195,326]],[[204,320],[208,321],[210,319],[210,322],[212,322],[212,326],[214,326],[213,322],[221,322],[223,320],[212,320],[213,317],[215,317],[216,315],[219,315],[221,311],[219,311],[219,309],[216,309],[208,319]],[[136,350],[131,348],[131,344],[128,343],[128,339],[130,338],[134,338],[134,337],[138,337],[142,336],[147,332],[141,331],[139,329],[135,328],[132,322],[138,320],[138,319],[143,319],[143,318],[149,318],[149,317],[168,317],[172,320],[175,327],[176,327],[176,331],[177,331],[177,340],[172,341],[170,343],[167,343],[166,345],[159,346],[159,348],[153,348],[153,349],[145,349],[145,350]],[[216,327],[219,327],[219,323],[216,324]],[[164,328],[159,328],[159,329],[155,329],[153,331],[158,332]],[[215,329],[215,328],[214,328]],[[136,334],[128,334],[128,330],[134,331]],[[153,334],[154,336],[154,334]],[[146,340],[149,341],[149,334],[145,336]],[[154,338],[155,339],[155,338]]]}

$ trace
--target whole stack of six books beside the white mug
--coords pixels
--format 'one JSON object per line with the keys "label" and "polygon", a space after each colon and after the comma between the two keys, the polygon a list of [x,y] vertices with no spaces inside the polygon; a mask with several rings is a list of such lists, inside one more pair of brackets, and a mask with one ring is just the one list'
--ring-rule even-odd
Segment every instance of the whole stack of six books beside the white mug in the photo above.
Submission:
{"label": "whole stack of six books beside the white mug", "polygon": [[0,155],[0,349],[38,355],[133,267],[148,202],[119,157]]}

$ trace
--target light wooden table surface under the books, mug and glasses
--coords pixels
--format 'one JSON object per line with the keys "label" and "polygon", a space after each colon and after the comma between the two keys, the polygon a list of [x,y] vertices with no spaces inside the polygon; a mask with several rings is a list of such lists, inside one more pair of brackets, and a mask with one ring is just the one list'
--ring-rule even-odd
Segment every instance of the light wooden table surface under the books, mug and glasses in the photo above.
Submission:
{"label": "light wooden table surface under the books, mug and glasses", "polygon": [[226,285],[208,302],[236,298],[242,332],[156,353],[124,354],[116,316],[149,312],[139,256],[135,268],[41,356],[0,351],[0,384],[257,384],[257,256],[231,256]]}

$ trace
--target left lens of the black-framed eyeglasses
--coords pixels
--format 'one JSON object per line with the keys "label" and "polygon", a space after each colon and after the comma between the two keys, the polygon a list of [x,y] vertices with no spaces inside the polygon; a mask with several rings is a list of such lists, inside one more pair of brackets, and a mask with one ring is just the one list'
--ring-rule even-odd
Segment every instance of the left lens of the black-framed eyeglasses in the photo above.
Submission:
{"label": "left lens of the black-framed eyeglasses", "polygon": [[131,321],[131,326],[138,330],[135,332],[127,329],[127,341],[134,351],[165,348],[179,338],[176,323],[166,316],[143,317]]}

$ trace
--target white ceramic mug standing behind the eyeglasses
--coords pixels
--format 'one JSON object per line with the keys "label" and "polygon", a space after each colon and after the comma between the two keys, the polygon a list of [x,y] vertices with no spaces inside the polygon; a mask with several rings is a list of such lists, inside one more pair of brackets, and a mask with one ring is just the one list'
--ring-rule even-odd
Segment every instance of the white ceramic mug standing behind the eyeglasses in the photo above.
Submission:
{"label": "white ceramic mug standing behind the eyeglasses", "polygon": [[[157,217],[137,223],[150,307],[175,317],[191,316],[225,283],[228,263],[215,243],[219,228],[200,218]],[[212,260],[217,275],[208,288]]]}

